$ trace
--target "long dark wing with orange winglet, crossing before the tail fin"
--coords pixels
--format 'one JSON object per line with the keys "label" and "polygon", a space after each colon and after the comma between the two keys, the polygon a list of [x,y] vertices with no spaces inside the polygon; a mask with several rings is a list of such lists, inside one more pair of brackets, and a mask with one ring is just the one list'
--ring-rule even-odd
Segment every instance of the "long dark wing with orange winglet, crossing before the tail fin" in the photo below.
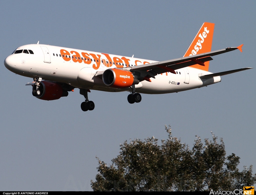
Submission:
{"label": "long dark wing with orange winglet, crossing before the tail fin", "polygon": [[175,70],[192,66],[195,64],[205,66],[204,62],[213,60],[211,56],[216,56],[216,55],[223,54],[236,49],[239,49],[242,52],[242,46],[243,45],[240,45],[238,47],[228,47],[225,49],[210,51],[203,54],[187,56],[187,57],[177,58],[173,60],[166,60],[161,62],[154,62],[150,64],[143,64],[143,65],[134,66],[131,68],[129,67],[130,69],[129,68],[127,69],[133,72],[133,74],[136,75],[140,81],[142,81],[150,77],[155,78],[155,75],[165,73],[165,72],[171,72],[173,74],[176,74]]}

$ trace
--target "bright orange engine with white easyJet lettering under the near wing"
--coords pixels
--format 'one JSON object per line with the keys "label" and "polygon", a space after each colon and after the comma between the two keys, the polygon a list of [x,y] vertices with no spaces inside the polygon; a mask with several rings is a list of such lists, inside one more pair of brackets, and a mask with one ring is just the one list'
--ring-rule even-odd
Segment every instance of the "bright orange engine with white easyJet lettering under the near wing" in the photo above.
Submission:
{"label": "bright orange engine with white easyJet lettering under the near wing", "polygon": [[136,85],[140,81],[133,77],[129,71],[119,69],[107,69],[102,75],[103,83],[114,88],[125,88]]}

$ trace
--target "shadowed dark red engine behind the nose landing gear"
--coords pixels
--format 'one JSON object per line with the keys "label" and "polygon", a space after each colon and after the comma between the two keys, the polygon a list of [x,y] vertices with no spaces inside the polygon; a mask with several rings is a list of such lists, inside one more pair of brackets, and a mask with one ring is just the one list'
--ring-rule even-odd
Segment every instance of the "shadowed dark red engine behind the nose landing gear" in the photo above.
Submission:
{"label": "shadowed dark red engine behind the nose landing gear", "polygon": [[[36,85],[33,85],[32,90],[35,89]],[[41,91],[41,95],[36,97],[42,100],[56,100],[68,96],[68,92],[63,90],[60,84],[50,81],[41,81],[39,90]]]}

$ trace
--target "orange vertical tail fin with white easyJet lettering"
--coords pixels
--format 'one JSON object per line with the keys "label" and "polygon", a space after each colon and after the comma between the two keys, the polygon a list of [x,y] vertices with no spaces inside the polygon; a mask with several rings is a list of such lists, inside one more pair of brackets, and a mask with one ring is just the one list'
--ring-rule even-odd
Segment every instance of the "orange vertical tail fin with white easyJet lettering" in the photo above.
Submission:
{"label": "orange vertical tail fin with white easyJet lettering", "polygon": [[[194,40],[188,47],[188,50],[186,51],[186,53],[183,57],[210,52],[213,31],[214,31],[214,23],[209,23],[209,22],[203,23],[202,27],[198,31],[196,37],[194,38]],[[208,71],[209,61],[205,62],[204,64],[205,64],[205,66],[195,64],[191,67]]]}

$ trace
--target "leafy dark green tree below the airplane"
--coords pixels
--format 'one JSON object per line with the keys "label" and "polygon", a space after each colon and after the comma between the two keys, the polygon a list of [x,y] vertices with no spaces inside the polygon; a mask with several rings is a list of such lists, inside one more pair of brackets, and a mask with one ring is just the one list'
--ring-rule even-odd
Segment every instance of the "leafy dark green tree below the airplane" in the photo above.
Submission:
{"label": "leafy dark green tree below the airplane", "polygon": [[127,140],[120,145],[120,154],[109,166],[100,161],[94,191],[202,191],[234,190],[253,186],[256,174],[252,165],[239,172],[239,157],[227,157],[222,138],[220,143],[212,133],[212,140],[204,144],[196,136],[192,150],[172,136],[165,126],[167,140],[154,137]]}

